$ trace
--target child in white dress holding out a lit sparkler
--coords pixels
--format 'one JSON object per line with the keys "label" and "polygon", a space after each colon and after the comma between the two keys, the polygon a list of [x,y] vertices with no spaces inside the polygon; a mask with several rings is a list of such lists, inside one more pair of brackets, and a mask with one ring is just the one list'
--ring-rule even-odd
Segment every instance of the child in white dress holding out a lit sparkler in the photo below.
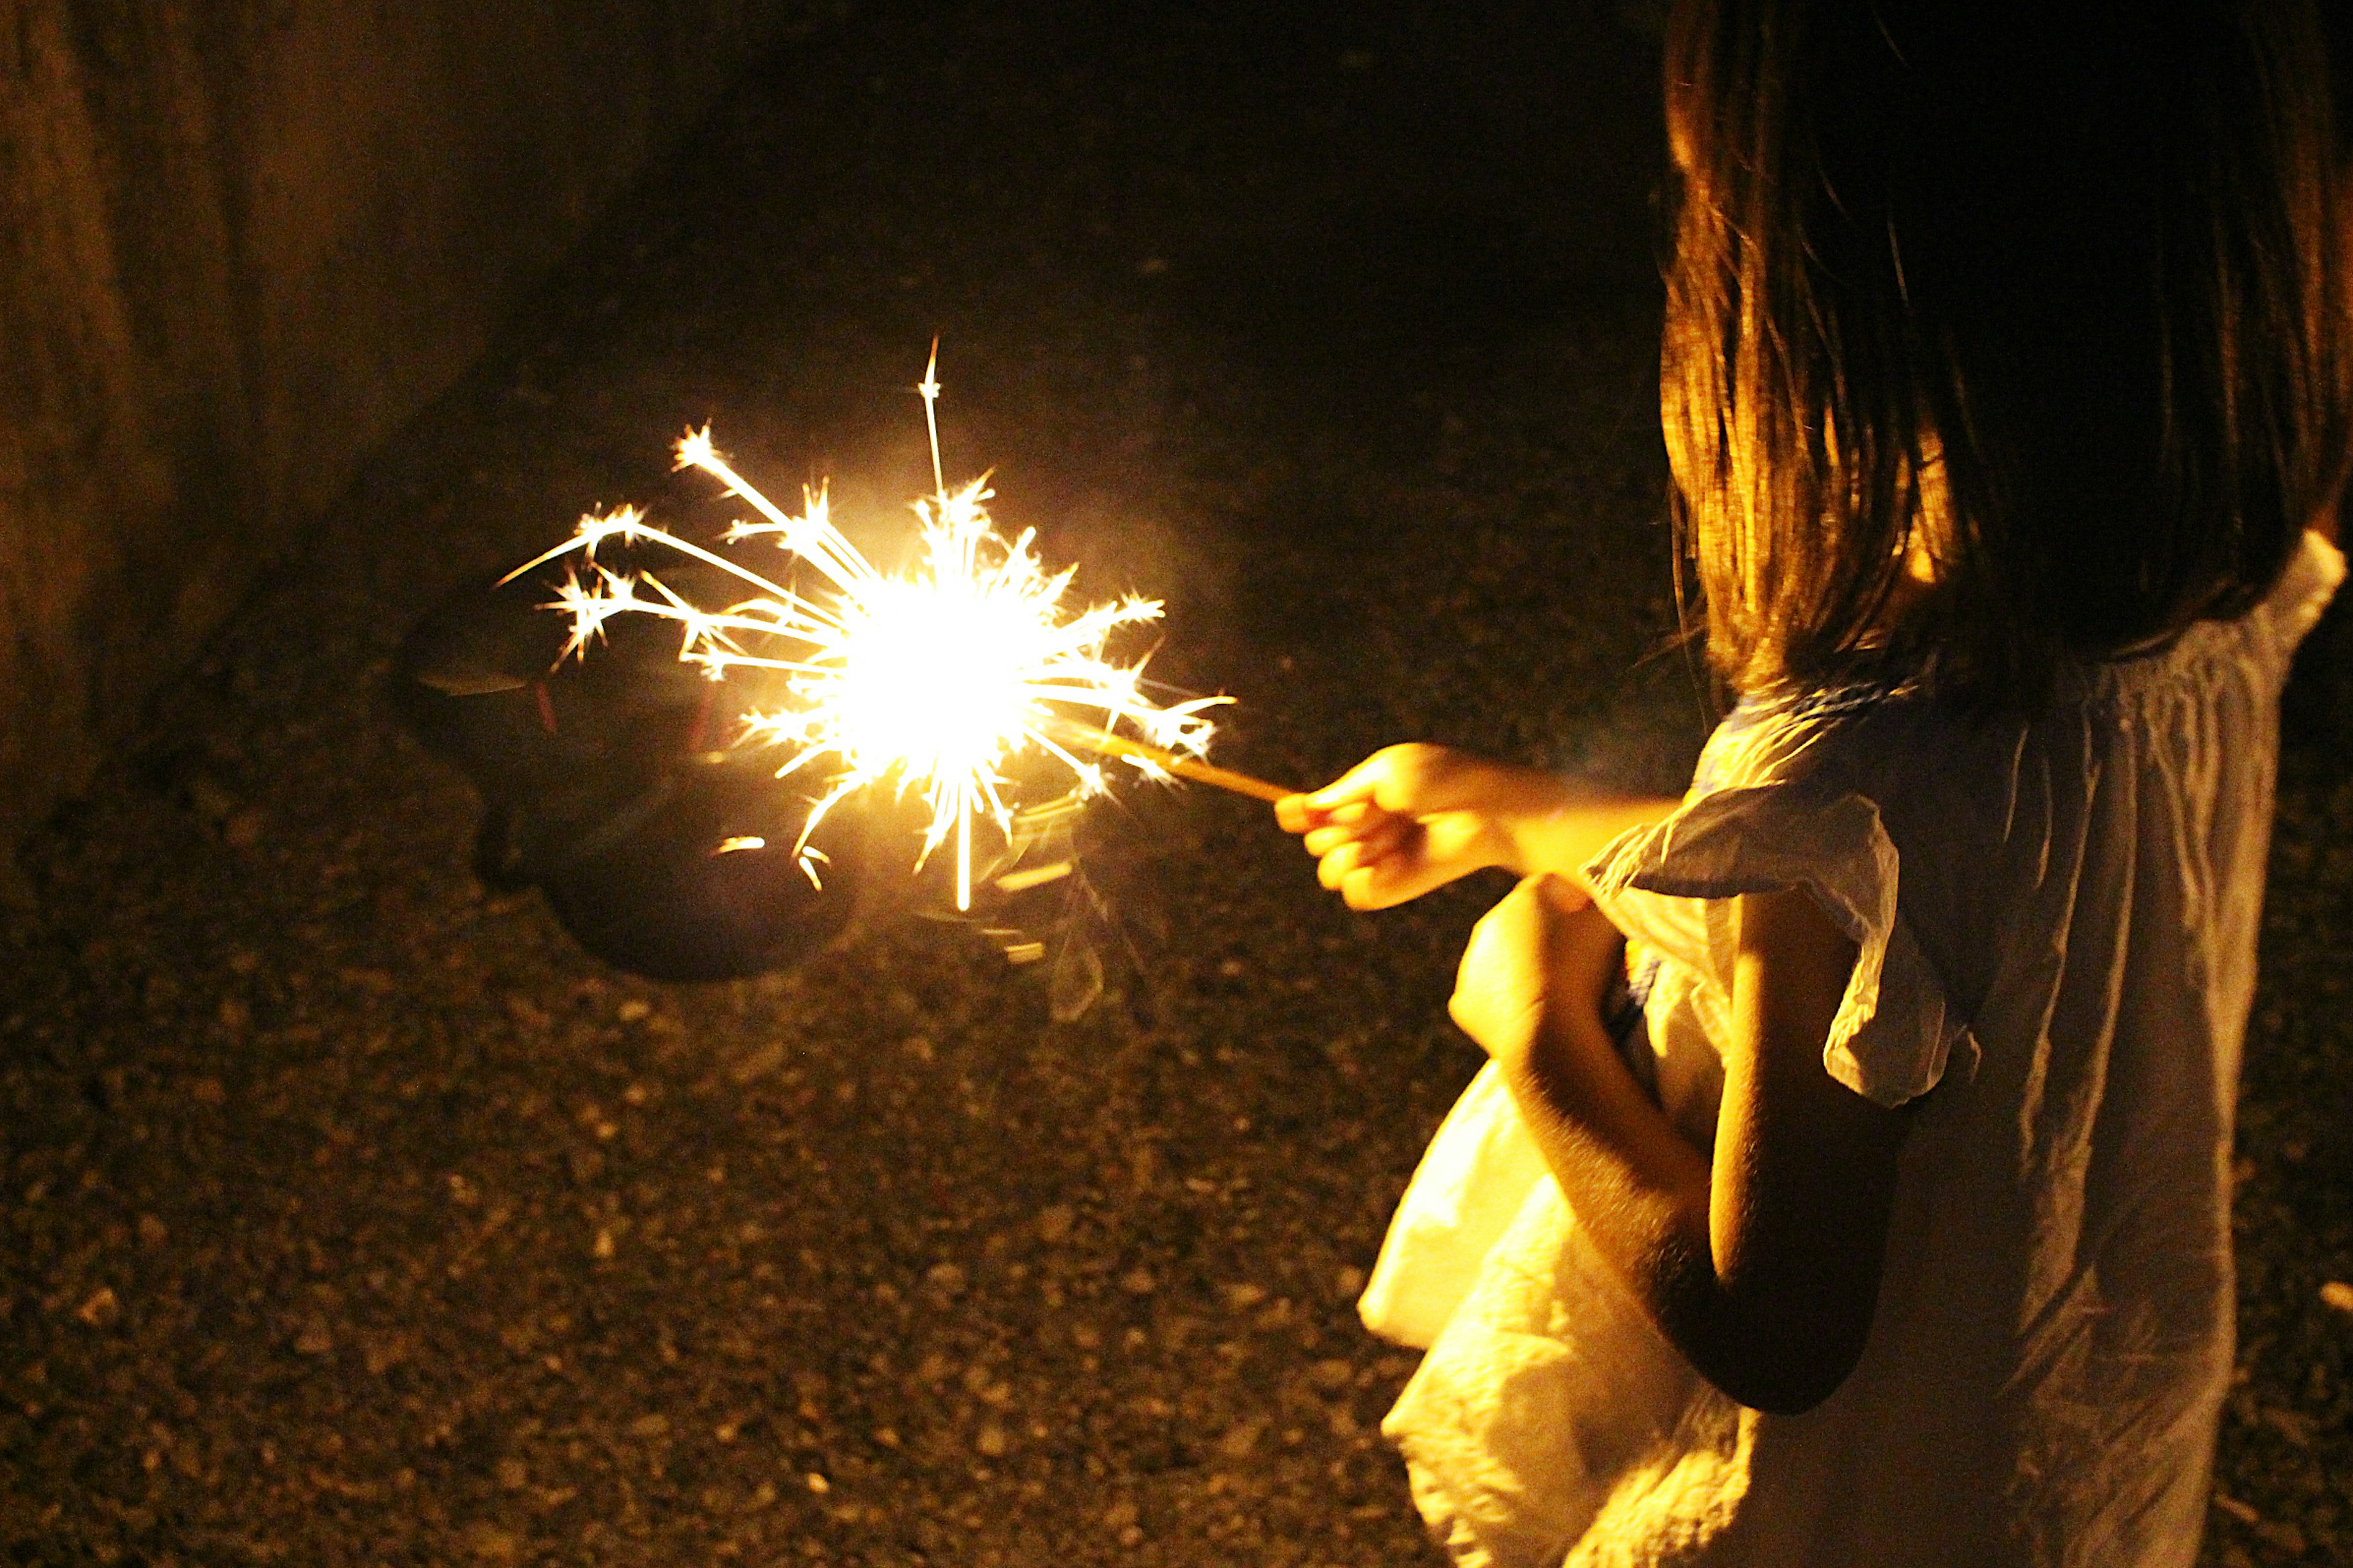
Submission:
{"label": "child in white dress holding out a lit sparkler", "polygon": [[1358,909],[1525,878],[1367,1293],[1461,1563],[2195,1561],[2278,692],[2344,574],[2315,33],[1678,5],[1661,407],[1739,706],[1680,803],[1393,746],[1278,808]]}

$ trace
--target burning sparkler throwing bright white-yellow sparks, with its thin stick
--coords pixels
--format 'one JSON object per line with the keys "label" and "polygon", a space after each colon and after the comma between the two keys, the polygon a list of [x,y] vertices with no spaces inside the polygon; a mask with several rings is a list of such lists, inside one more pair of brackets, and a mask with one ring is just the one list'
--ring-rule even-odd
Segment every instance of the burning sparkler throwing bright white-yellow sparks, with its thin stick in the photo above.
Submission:
{"label": "burning sparkler throwing bright white-yellow sparks, with its thin stick", "polygon": [[[1144,662],[1118,664],[1113,633],[1160,619],[1160,603],[1125,598],[1066,607],[1071,570],[1047,572],[1031,549],[1035,530],[1007,539],[988,518],[988,478],[951,492],[939,461],[939,344],[925,367],[922,414],[932,443],[932,494],[913,501],[922,560],[901,577],[875,570],[833,525],[824,485],[802,490],[798,516],[760,494],[718,447],[711,428],[678,443],[678,466],[718,478],[758,523],[734,523],[725,542],[774,539],[791,556],[779,574],[755,572],[645,520],[638,509],[591,513],[565,544],[508,572],[508,582],[560,556],[574,567],[551,605],[572,614],[565,657],[586,655],[605,622],[649,614],[680,629],[678,657],[713,680],[729,671],[772,671],[788,695],[746,716],[744,742],[772,744],[786,758],[776,777],[831,760],[831,782],[809,805],[800,866],[816,881],[824,852],[812,833],[845,796],[894,779],[929,805],[915,866],[955,841],[955,906],[972,906],[972,819],[1012,831],[1016,808],[1007,765],[1042,753],[1068,772],[1080,798],[1104,793],[1096,756],[1132,763],[1151,777],[1188,777],[1261,800],[1289,791],[1212,768],[1205,709],[1226,697],[1155,704],[1141,690]],[[616,572],[598,563],[607,542],[654,544],[715,567],[748,596],[704,610],[649,570]],[[819,584],[802,591],[807,565]],[[1132,727],[1139,735],[1122,735]],[[751,850],[729,841],[725,850]]]}

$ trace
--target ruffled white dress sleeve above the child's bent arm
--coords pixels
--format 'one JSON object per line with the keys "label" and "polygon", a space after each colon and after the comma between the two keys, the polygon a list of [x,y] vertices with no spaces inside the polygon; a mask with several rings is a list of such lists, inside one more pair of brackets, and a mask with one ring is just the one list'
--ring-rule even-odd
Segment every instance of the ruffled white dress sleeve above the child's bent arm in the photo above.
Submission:
{"label": "ruffled white dress sleeve above the child's bent arm", "polygon": [[1689,968],[1729,1015],[1732,899],[1805,888],[1859,956],[1821,1062],[1885,1107],[1925,1095],[1967,1029],[1897,909],[1897,848],[1859,793],[1755,784],[1704,793],[1617,838],[1586,866],[1593,897],[1628,939]]}

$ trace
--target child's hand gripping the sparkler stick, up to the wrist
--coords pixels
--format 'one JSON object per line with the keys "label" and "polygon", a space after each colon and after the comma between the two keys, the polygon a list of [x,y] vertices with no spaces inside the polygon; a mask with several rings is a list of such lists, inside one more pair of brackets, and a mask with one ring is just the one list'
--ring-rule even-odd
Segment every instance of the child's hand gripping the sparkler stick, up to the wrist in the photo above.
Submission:
{"label": "child's hand gripping the sparkler stick, up to the wrist", "polygon": [[1520,770],[1449,746],[1386,746],[1315,793],[1275,803],[1306,836],[1315,881],[1348,909],[1388,909],[1506,864],[1497,810]]}

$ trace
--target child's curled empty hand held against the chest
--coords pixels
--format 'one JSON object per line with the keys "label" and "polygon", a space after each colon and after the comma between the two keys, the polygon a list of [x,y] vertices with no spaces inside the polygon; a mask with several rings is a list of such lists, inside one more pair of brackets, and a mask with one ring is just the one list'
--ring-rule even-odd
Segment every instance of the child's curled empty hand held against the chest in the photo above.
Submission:
{"label": "child's curled empty hand held against the chest", "polygon": [[1529,876],[1471,930],[1447,1012],[1518,1071],[1544,1050],[1605,1041],[1602,998],[1624,954],[1593,899],[1558,876]]}

